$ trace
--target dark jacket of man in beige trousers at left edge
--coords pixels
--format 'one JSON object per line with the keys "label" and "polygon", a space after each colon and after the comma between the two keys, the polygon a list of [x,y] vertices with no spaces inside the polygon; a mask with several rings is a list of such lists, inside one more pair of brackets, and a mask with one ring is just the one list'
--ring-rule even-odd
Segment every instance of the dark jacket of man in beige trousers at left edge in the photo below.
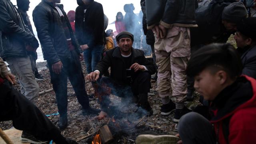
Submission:
{"label": "dark jacket of man in beige trousers at left edge", "polygon": [[27,56],[25,44],[37,42],[10,0],[0,0],[0,56]]}

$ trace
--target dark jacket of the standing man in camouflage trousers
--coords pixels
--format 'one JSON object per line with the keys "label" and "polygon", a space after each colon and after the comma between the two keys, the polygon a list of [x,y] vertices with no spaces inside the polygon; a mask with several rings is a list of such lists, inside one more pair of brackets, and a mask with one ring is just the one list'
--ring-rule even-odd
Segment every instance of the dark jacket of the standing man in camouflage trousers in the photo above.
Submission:
{"label": "dark jacket of the standing man in camouflage trousers", "polygon": [[156,24],[196,27],[196,0],[146,0],[148,29]]}

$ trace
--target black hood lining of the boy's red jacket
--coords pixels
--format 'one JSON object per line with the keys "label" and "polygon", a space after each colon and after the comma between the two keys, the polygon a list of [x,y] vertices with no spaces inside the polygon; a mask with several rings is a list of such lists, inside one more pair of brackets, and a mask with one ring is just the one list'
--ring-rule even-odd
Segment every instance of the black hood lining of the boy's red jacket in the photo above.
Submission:
{"label": "black hood lining of the boy's red jacket", "polygon": [[239,109],[255,106],[252,102],[256,99],[256,94],[254,93],[256,83],[252,79],[248,76],[241,76],[218,94],[210,104],[210,110],[216,112],[211,122],[219,122]]}

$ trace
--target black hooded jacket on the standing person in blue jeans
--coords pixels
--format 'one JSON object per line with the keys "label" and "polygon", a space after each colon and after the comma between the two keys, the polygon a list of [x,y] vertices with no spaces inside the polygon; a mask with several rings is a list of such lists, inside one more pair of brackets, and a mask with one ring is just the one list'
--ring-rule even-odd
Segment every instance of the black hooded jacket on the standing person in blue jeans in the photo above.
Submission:
{"label": "black hooded jacket on the standing person in blue jeans", "polygon": [[[84,5],[82,0],[77,0],[76,8],[76,36],[80,45],[87,44],[89,47],[104,44],[104,12],[102,4],[91,0],[90,4]],[[86,13],[84,14],[84,10]]]}

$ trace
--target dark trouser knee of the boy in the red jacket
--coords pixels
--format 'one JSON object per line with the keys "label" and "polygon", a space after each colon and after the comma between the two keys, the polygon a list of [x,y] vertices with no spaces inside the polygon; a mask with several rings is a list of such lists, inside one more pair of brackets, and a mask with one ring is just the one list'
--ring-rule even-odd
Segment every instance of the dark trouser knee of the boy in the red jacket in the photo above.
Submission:
{"label": "dark trouser knee of the boy in the red jacket", "polygon": [[212,124],[196,112],[190,112],[180,118],[178,133],[182,144],[216,144]]}

